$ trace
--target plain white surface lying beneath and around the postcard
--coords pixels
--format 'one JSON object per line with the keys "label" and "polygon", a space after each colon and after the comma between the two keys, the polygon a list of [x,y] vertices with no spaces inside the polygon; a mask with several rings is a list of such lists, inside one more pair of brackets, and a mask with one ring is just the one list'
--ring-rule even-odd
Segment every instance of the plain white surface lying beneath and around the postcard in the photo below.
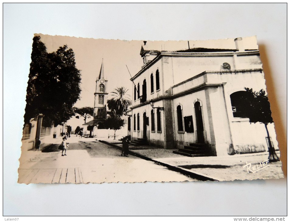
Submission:
{"label": "plain white surface lying beneath and around the postcard", "polygon": [[3,215],[285,216],[286,179],[24,185],[17,184],[17,168],[34,33],[121,40],[257,35],[275,88],[269,98],[276,97],[286,120],[286,10],[286,4],[4,4]]}

